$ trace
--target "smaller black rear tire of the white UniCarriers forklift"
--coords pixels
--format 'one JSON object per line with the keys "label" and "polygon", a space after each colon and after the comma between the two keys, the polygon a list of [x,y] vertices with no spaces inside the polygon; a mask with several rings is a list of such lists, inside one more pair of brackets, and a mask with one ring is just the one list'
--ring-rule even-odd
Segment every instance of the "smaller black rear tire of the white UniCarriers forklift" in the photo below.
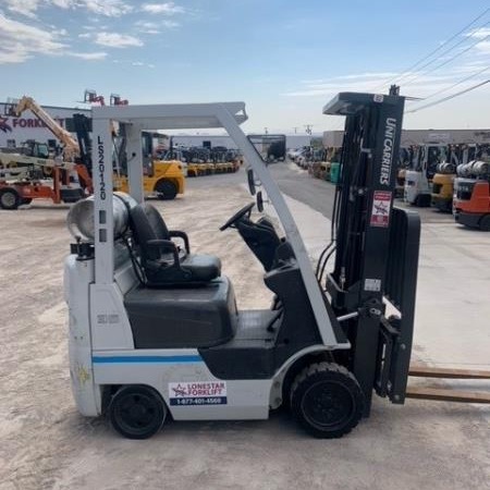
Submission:
{"label": "smaller black rear tire of the white UniCarriers forklift", "polygon": [[112,427],[127,439],[148,439],[157,433],[167,412],[160,394],[142,384],[120,388],[109,405]]}

